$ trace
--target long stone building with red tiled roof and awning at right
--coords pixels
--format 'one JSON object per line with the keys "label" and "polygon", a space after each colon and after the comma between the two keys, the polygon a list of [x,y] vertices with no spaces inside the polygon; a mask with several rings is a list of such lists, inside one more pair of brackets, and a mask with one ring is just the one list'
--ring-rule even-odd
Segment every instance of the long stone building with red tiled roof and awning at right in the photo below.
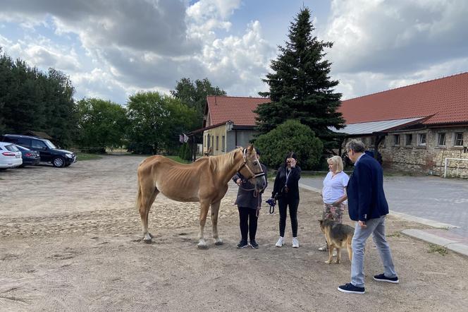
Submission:
{"label": "long stone building with red tiled roof and awning at right", "polygon": [[468,73],[345,100],[338,111],[346,126],[337,132],[381,152],[384,166],[468,177]]}

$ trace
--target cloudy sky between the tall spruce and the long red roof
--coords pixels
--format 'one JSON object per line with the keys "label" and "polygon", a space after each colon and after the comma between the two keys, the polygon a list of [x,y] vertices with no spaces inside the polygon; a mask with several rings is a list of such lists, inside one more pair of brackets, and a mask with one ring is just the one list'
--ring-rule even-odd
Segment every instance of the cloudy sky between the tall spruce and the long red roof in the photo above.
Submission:
{"label": "cloudy sky between the tall spruce and the long red roof", "polygon": [[350,99],[468,70],[468,2],[333,0],[321,37],[334,42],[337,90]]}

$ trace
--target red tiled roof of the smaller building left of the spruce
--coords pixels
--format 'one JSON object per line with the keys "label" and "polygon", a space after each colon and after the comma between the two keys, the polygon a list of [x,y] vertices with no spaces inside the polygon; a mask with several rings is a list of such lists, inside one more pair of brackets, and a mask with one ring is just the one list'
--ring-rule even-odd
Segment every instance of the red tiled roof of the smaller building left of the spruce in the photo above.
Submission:
{"label": "red tiled roof of the smaller building left of the spruce", "polygon": [[221,124],[228,120],[234,122],[236,126],[255,126],[257,114],[253,111],[262,103],[271,102],[265,97],[222,97],[207,96],[208,114],[210,123]]}

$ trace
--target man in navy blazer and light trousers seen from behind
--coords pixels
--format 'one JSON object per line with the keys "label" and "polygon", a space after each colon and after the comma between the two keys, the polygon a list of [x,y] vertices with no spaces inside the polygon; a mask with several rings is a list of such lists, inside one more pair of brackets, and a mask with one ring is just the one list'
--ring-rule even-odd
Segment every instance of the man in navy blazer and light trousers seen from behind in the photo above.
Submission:
{"label": "man in navy blazer and light trousers seen from behind", "polygon": [[364,153],[364,144],[359,140],[348,142],[346,150],[350,160],[355,163],[347,184],[347,201],[350,219],[356,221],[356,224],[352,236],[351,282],[339,286],[338,290],[364,294],[364,246],[371,234],[384,268],[383,274],[375,275],[374,280],[393,284],[399,280],[385,237],[388,203],[383,193],[382,167],[373,157]]}

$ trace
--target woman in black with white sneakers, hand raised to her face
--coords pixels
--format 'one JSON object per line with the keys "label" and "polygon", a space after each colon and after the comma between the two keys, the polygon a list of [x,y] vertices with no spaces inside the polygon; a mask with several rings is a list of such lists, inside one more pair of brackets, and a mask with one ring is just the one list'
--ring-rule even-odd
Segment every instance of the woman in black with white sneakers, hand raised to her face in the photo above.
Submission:
{"label": "woman in black with white sneakers, hand raised to her face", "polygon": [[296,165],[297,157],[294,152],[288,153],[285,162],[278,169],[275,184],[273,186],[273,198],[278,198],[280,210],[280,238],[276,242],[276,247],[284,244],[284,231],[286,227],[286,210],[289,206],[289,217],[293,229],[293,248],[299,247],[297,241],[297,206],[299,205],[299,179],[301,169]]}

